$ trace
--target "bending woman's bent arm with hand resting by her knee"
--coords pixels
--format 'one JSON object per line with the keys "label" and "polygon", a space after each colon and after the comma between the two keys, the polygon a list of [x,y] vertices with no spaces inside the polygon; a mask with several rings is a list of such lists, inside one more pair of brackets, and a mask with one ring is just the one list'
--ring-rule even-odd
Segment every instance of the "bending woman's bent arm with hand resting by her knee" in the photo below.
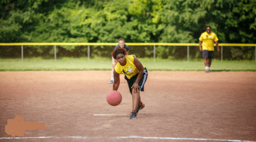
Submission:
{"label": "bending woman's bent arm with hand resting by her knee", "polygon": [[135,83],[133,84],[133,86],[131,88],[133,88],[134,91],[137,92],[138,90],[140,90],[139,82],[140,82],[140,80],[142,78],[144,67],[143,67],[142,63],[136,57],[133,56],[133,58],[134,58],[133,63],[134,63],[134,65],[137,67],[137,69],[140,72],[139,72],[139,74],[137,76],[137,79],[136,79]]}

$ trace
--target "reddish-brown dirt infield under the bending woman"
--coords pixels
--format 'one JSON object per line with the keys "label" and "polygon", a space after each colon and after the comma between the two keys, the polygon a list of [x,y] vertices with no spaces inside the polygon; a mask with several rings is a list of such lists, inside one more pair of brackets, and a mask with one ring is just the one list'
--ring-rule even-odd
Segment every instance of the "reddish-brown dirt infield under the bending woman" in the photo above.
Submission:
{"label": "reddish-brown dirt infield under the bending woman", "polygon": [[[123,100],[110,106],[110,71],[1,71],[0,142],[256,141],[256,72],[148,71],[136,120],[120,78]],[[11,137],[15,116],[46,129]]]}

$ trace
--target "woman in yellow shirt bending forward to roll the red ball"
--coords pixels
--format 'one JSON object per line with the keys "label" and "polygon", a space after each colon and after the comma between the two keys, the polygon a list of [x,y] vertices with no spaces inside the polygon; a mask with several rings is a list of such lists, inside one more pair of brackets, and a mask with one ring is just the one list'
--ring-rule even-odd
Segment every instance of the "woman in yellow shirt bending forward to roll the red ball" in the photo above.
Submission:
{"label": "woman in yellow shirt bending forward to roll the red ball", "polygon": [[117,91],[120,84],[119,75],[124,74],[132,96],[130,119],[137,119],[137,113],[145,107],[145,104],[141,102],[140,91],[144,91],[148,71],[135,55],[125,55],[126,50],[124,48],[118,48],[112,52],[112,57],[118,61],[114,67],[113,90]]}

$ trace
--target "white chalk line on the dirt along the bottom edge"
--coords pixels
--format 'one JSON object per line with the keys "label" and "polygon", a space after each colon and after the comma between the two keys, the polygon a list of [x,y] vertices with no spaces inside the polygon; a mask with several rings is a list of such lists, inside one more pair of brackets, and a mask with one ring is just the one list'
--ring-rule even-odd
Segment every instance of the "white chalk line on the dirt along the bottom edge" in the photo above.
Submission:
{"label": "white chalk line on the dirt along the bottom edge", "polygon": [[[23,138],[98,138],[98,137],[0,137],[0,139],[23,139]],[[195,140],[195,141],[227,141],[227,142],[256,142],[241,140],[222,140],[222,139],[205,139],[205,138],[176,138],[176,137],[115,137],[115,138],[145,138],[145,139],[170,139],[170,140]]]}

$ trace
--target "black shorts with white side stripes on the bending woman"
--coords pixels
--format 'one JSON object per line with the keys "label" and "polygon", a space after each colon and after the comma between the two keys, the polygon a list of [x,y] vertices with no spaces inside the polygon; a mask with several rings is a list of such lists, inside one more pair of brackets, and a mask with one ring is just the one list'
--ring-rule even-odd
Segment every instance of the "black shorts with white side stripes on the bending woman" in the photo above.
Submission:
{"label": "black shorts with white side stripes on the bending woman", "polygon": [[[136,82],[136,79],[138,77],[138,74],[137,73],[135,76],[132,76],[130,79],[128,79],[126,76],[125,76],[125,80],[127,81],[128,83],[128,86],[129,86],[129,90],[130,92],[132,93],[132,85]],[[146,69],[146,67],[144,68],[144,71],[143,71],[143,75],[142,75],[142,78],[139,82],[139,87],[140,87],[140,91],[144,91],[144,84],[145,82],[147,81],[147,78],[148,78],[148,71]]]}

